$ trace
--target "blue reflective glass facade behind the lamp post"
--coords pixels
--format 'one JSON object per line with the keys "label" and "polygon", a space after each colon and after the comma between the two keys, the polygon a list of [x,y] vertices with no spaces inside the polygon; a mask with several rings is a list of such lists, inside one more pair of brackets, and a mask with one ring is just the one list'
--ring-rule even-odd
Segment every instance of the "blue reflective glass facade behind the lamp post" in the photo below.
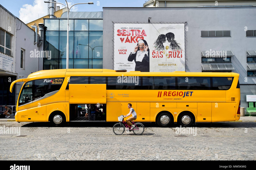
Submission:
{"label": "blue reflective glass facade behind the lamp post", "polygon": [[[65,69],[67,19],[44,19],[47,27],[43,69]],[[103,68],[103,20],[69,19],[69,68]]]}

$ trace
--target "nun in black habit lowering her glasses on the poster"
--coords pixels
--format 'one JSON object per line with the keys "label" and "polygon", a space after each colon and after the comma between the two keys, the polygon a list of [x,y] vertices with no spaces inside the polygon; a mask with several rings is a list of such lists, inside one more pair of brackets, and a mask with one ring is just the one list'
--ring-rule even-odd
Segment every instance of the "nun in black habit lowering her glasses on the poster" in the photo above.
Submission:
{"label": "nun in black habit lowering her glasses on the poster", "polygon": [[145,40],[139,40],[128,61],[135,61],[135,71],[149,72],[149,49]]}

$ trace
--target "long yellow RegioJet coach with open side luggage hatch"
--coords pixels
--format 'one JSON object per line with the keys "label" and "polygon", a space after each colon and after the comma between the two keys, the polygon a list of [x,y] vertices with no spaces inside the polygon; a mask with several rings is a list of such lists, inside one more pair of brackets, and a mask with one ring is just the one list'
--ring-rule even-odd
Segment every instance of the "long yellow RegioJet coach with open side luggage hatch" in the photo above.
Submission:
{"label": "long yellow RegioJet coach with open side luggage hatch", "polygon": [[240,119],[239,74],[138,72],[109,69],[55,69],[30,74],[17,101],[17,122],[117,122],[137,113],[137,122],[160,127],[179,123]]}

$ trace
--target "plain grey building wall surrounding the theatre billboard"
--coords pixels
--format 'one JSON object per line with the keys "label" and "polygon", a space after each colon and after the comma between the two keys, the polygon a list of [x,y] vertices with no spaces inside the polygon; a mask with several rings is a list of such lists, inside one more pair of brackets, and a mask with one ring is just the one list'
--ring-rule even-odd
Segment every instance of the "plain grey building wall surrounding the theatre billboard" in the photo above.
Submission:
{"label": "plain grey building wall surrounding the theatre billboard", "polygon": [[[103,8],[103,68],[114,68],[113,24],[148,23],[151,17],[151,23],[187,22],[187,72],[202,71],[201,51],[231,50],[235,55],[231,57],[232,72],[240,74],[240,84],[253,85],[254,78],[247,77],[246,50],[256,50],[256,37],[246,37],[245,28],[256,30],[255,16],[256,7]],[[231,37],[201,37],[201,31],[223,30],[231,31]]]}

